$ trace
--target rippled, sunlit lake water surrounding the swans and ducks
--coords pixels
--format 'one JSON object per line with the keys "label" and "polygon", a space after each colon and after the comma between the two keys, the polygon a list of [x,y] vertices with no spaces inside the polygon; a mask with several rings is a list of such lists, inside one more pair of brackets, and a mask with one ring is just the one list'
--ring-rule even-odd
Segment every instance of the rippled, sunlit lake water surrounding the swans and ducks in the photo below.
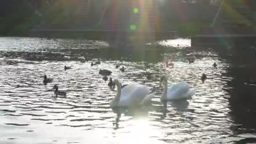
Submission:
{"label": "rippled, sunlit lake water surrounding the swans and ducks", "polygon": [[[245,144],[256,142],[255,53],[191,48],[190,40],[112,46],[88,40],[0,37],[0,144]],[[184,50],[183,47],[188,47]],[[169,56],[174,67],[165,67]],[[85,63],[80,59],[88,58]],[[188,59],[194,59],[192,64]],[[91,67],[91,62],[101,64]],[[218,64],[217,69],[212,64]],[[125,72],[115,65],[125,67]],[[64,70],[64,65],[72,69]],[[112,110],[99,69],[155,87],[141,109]],[[148,80],[146,72],[152,73]],[[200,76],[208,79],[202,83]],[[53,83],[43,85],[43,75]],[[189,100],[160,101],[160,77],[186,81]],[[67,91],[55,98],[53,85]]]}

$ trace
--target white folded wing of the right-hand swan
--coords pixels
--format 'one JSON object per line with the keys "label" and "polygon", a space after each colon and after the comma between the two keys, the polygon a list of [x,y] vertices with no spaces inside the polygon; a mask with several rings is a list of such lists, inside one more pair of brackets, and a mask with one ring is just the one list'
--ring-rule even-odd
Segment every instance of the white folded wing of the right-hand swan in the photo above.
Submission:
{"label": "white folded wing of the right-hand swan", "polygon": [[189,85],[185,82],[177,83],[171,86],[167,91],[167,99],[184,99],[187,98]]}

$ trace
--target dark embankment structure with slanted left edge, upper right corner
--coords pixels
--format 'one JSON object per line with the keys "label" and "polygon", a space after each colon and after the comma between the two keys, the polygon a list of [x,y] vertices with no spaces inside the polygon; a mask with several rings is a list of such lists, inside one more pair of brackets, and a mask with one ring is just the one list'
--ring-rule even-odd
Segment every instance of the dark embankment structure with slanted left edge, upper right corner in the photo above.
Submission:
{"label": "dark embankment structure with slanted left edge, upper right corner", "polygon": [[211,27],[192,37],[192,46],[256,45],[256,1],[222,0]]}

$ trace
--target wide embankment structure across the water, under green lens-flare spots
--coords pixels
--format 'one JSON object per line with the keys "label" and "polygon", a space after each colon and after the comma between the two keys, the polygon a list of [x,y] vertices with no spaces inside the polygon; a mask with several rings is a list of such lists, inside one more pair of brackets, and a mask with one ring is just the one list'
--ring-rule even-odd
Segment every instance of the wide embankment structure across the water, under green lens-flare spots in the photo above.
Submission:
{"label": "wide embankment structure across the water, under green lens-flare spots", "polygon": [[30,36],[94,40],[176,37],[175,31],[161,25],[159,0],[55,0],[44,7],[41,24],[29,31]]}

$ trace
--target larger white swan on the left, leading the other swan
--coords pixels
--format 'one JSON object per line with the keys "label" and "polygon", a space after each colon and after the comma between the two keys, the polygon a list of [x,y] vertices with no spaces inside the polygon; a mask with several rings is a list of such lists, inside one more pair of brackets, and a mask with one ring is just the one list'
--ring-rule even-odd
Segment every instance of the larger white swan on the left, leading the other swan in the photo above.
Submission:
{"label": "larger white swan on the left, leading the other swan", "polygon": [[155,93],[145,86],[138,83],[133,83],[121,89],[121,83],[118,80],[113,80],[117,85],[117,95],[110,102],[110,107],[132,107],[141,106],[150,101]]}

